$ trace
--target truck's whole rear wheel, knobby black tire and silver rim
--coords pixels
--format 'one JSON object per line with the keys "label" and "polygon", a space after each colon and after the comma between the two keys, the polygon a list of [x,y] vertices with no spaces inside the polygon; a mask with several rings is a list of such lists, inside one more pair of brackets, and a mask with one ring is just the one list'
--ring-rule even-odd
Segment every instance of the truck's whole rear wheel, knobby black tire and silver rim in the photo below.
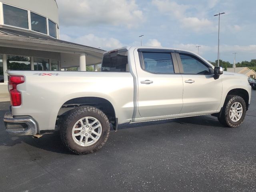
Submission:
{"label": "truck's whole rear wheel, knobby black tire and silver rim", "polygon": [[106,143],[110,133],[107,116],[98,108],[74,108],[60,126],[63,144],[75,154],[93,153]]}

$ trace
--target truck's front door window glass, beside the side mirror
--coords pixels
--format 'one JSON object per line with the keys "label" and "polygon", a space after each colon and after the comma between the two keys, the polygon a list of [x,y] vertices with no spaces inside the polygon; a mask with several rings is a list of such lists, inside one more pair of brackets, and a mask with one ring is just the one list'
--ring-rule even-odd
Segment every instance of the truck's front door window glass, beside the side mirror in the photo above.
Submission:
{"label": "truck's front door window glass, beside the side mirror", "polygon": [[210,74],[209,67],[195,56],[180,53],[180,59],[184,74]]}

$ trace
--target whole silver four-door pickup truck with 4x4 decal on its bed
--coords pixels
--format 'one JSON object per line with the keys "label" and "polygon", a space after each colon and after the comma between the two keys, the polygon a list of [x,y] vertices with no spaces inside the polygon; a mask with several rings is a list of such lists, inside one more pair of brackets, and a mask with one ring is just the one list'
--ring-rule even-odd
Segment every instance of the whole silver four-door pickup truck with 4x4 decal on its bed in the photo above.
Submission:
{"label": "whole silver four-door pickup truck with 4x4 decal on its bed", "polygon": [[106,52],[101,72],[14,71],[6,131],[41,136],[59,131],[76,154],[100,149],[110,124],[212,114],[239,126],[250,106],[242,74],[223,72],[185,50],[124,47]]}

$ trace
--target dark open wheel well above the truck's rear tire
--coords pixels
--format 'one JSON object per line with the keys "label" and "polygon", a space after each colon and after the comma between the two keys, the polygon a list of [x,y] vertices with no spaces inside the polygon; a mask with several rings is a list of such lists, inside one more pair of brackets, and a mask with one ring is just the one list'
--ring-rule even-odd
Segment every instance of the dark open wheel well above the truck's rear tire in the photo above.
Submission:
{"label": "dark open wheel well above the truck's rear tire", "polygon": [[109,122],[113,124],[113,127],[115,126],[116,113],[114,107],[108,100],[98,97],[79,97],[70,99],[61,106],[58,112],[58,117],[61,118],[65,116],[70,110],[78,106],[92,106],[102,110],[108,117]]}

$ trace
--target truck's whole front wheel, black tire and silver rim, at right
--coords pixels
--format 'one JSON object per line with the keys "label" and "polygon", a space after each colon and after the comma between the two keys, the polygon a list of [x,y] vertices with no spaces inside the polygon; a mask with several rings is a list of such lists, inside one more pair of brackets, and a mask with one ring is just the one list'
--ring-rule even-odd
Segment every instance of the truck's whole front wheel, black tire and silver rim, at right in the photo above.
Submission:
{"label": "truck's whole front wheel, black tire and silver rim, at right", "polygon": [[219,122],[227,127],[237,127],[244,121],[246,114],[246,103],[244,99],[236,95],[228,95]]}

